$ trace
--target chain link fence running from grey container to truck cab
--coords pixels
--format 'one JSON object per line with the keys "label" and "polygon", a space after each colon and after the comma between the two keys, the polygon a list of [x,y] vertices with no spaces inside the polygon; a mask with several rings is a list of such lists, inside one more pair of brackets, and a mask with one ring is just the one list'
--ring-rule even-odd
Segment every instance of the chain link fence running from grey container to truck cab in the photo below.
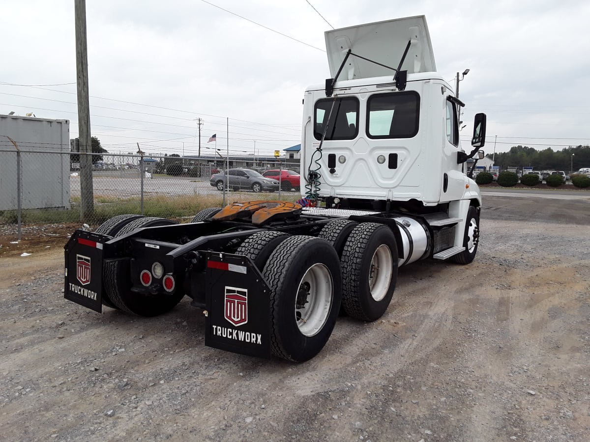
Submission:
{"label": "chain link fence running from grey container to truck cab", "polygon": [[[0,225],[17,225],[19,239],[21,225],[94,228],[123,213],[186,222],[206,207],[300,197],[299,177],[290,176],[299,173],[297,159],[84,154],[12,144],[0,146]],[[233,176],[227,168],[244,170]]]}

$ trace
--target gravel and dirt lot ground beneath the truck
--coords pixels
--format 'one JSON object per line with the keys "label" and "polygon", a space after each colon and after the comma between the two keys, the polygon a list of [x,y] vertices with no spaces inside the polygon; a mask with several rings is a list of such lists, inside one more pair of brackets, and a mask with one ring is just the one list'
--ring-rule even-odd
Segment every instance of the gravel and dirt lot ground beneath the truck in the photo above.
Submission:
{"label": "gravel and dirt lot ground beneath the truck", "polygon": [[484,196],[471,265],[401,268],[383,318],[339,318],[303,364],[205,347],[186,299],[65,301],[70,226],[0,235],[0,440],[586,441],[589,215]]}

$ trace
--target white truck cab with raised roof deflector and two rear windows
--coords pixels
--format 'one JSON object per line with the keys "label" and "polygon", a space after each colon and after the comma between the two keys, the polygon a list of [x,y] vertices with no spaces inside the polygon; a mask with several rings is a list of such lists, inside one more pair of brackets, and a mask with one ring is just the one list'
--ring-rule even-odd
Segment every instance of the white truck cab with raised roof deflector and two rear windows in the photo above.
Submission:
{"label": "white truck cab with raised roof deflector and two rear windows", "polygon": [[[464,104],[436,71],[424,16],[327,31],[326,47],[333,90],[326,96],[327,88],[315,85],[304,95],[302,175],[321,176],[307,187],[350,207],[479,206],[478,186],[464,173]],[[401,69],[392,70],[404,48]],[[349,51],[361,57],[345,61]],[[407,71],[405,82],[396,71]]]}

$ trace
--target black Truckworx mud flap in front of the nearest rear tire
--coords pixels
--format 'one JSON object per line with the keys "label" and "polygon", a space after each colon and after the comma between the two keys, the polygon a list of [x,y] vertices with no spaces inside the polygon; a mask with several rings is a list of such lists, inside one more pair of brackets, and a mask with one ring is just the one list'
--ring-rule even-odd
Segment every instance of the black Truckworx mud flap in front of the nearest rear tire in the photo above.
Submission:
{"label": "black Truckworx mud flap in front of the nearest rear tire", "polygon": [[262,275],[245,256],[205,255],[205,345],[270,358],[270,290]]}

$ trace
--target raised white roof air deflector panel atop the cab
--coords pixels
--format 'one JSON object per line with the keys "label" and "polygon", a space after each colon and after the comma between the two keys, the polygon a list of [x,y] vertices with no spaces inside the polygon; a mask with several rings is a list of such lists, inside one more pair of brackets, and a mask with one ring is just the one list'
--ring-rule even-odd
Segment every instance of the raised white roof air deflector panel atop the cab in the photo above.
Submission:
{"label": "raised white roof air deflector panel atop the cab", "polygon": [[[411,45],[402,70],[407,70],[408,74],[435,72],[437,68],[424,15],[326,31],[330,75],[335,77],[349,49],[353,54],[397,68],[408,41]],[[351,55],[339,80],[386,75],[395,75],[395,71]]]}

